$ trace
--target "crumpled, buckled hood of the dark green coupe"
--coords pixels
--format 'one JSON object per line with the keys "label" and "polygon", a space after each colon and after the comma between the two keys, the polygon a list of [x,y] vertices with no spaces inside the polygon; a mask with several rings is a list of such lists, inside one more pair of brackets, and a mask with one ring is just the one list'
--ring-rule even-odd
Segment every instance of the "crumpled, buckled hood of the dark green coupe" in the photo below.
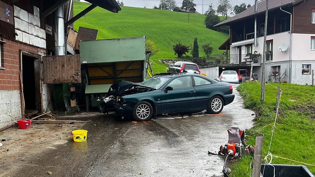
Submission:
{"label": "crumpled, buckled hood of the dark green coupe", "polygon": [[[148,87],[148,86],[141,85],[138,83],[121,80],[121,81],[116,81],[115,83],[112,84],[112,86],[108,90],[108,95],[116,95],[116,96],[122,95],[125,92],[125,90],[132,88],[134,86],[152,88],[152,87]],[[152,89],[155,89],[155,88],[152,88]]]}

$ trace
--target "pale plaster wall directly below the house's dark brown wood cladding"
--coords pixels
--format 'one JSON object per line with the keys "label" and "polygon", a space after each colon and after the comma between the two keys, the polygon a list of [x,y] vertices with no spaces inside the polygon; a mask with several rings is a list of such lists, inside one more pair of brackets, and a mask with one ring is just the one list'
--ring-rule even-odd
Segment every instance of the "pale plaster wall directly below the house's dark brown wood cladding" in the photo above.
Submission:
{"label": "pale plaster wall directly below the house's dark brown wood cladding", "polygon": [[315,34],[292,34],[292,60],[315,60],[315,50],[311,50],[311,36]]}

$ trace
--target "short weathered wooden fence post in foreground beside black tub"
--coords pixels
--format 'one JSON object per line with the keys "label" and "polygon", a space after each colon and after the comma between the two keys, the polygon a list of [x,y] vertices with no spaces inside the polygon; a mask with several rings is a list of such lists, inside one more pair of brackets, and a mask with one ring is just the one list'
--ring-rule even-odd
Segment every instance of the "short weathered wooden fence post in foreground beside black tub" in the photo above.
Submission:
{"label": "short weathered wooden fence post in foreground beside black tub", "polygon": [[255,143],[255,154],[254,154],[254,164],[253,164],[253,177],[260,177],[261,171],[261,154],[262,145],[264,142],[264,134],[258,134],[256,136]]}

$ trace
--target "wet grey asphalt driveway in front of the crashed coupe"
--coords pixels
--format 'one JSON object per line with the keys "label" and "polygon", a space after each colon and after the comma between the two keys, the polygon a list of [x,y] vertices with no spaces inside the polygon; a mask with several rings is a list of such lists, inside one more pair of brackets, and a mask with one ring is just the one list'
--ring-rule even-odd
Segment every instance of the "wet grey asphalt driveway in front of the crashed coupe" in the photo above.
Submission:
{"label": "wet grey asphalt driveway in front of the crashed coupe", "polygon": [[86,142],[73,142],[69,134],[68,143],[39,153],[32,163],[16,162],[31,165],[8,164],[16,168],[9,176],[221,176],[223,158],[208,150],[227,142],[227,128],[253,125],[254,112],[243,109],[235,89],[234,94],[219,115],[158,116],[147,122],[89,118]]}

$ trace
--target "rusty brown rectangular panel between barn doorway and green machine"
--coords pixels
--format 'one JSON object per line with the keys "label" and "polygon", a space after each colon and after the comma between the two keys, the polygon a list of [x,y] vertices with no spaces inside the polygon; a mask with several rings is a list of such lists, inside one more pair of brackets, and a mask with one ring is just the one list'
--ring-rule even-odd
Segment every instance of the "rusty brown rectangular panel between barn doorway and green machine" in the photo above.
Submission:
{"label": "rusty brown rectangular panel between barn doorway and green machine", "polygon": [[79,55],[43,57],[44,83],[81,83]]}

